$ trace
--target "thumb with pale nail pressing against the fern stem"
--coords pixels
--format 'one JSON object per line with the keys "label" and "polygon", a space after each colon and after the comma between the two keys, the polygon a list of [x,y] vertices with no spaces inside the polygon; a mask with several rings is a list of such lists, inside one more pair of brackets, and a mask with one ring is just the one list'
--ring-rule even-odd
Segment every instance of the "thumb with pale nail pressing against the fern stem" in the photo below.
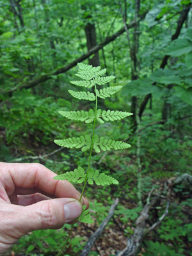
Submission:
{"label": "thumb with pale nail pressing against the fern stem", "polygon": [[61,228],[81,215],[83,207],[74,198],[44,200],[24,207],[28,224],[24,233],[38,229]]}

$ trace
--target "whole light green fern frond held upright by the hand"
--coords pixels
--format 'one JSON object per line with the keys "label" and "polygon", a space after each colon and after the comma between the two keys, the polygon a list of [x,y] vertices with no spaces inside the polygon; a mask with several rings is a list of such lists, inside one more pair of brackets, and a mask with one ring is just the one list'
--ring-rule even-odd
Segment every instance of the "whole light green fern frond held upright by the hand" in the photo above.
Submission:
{"label": "whole light green fern frond held upright by the hand", "polygon": [[[102,109],[97,109],[98,97],[100,99],[111,97],[111,95],[118,92],[122,88],[122,86],[110,86],[108,88],[97,89],[97,86],[113,81],[115,79],[115,76],[102,77],[106,73],[106,68],[101,70],[100,67],[92,67],[92,65],[85,65],[83,63],[78,63],[78,66],[79,66],[79,70],[76,76],[80,77],[82,80],[72,81],[70,83],[75,84],[76,86],[82,86],[85,88],[94,87],[95,93],[76,92],[73,90],[68,90],[68,92],[70,93],[70,95],[72,95],[73,97],[79,100],[95,101],[95,109],[90,109],[89,111],[83,111],[83,110],[60,111],[59,113],[70,120],[81,121],[87,124],[93,122],[93,131],[92,131],[92,134],[86,134],[85,136],[81,135],[79,137],[66,138],[63,140],[54,140],[54,143],[56,143],[61,147],[81,148],[83,152],[86,150],[90,150],[90,154],[88,157],[88,166],[86,168],[86,171],[81,166],[79,166],[74,171],[57,175],[56,177],[54,177],[54,179],[68,180],[69,182],[74,182],[74,183],[84,182],[81,197],[79,199],[79,202],[81,202],[81,198],[83,196],[84,189],[86,187],[87,182],[88,184],[93,184],[93,182],[95,182],[95,184],[97,184],[98,186],[118,184],[118,181],[113,177],[110,177],[105,173],[99,173],[98,170],[93,170],[93,168],[91,168],[92,151],[95,150],[95,152],[99,153],[101,150],[102,151],[111,150],[111,149],[118,150],[118,149],[131,147],[131,145],[123,141],[108,140],[102,136],[99,137],[97,134],[95,134],[96,122],[97,121],[100,123],[104,123],[108,121],[113,122],[113,121],[125,118],[127,116],[130,116],[132,114],[128,112],[122,112],[122,111],[111,111],[111,110],[106,111]],[[93,222],[90,216],[89,210],[86,210],[84,208],[83,208],[83,213],[81,214],[79,220],[84,223]],[[67,242],[68,242],[68,239],[67,239]]]}

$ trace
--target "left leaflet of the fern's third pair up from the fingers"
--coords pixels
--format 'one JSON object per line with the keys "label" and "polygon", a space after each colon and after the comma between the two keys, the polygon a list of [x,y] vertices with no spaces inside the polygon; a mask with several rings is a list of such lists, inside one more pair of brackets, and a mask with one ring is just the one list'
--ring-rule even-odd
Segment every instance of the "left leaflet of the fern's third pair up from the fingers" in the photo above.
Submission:
{"label": "left leaflet of the fern's third pair up from the fingers", "polygon": [[95,112],[93,109],[90,109],[89,111],[59,111],[59,113],[70,120],[86,122],[87,124],[93,122],[95,118]]}

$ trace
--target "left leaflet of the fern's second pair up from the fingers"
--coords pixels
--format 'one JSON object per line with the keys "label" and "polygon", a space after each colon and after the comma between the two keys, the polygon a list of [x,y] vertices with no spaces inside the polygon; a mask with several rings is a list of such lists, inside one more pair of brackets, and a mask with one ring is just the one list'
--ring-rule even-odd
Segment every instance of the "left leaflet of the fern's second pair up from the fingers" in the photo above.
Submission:
{"label": "left leaflet of the fern's second pair up from the fingers", "polygon": [[84,152],[91,147],[92,139],[89,135],[72,137],[64,140],[54,140],[54,143],[65,148],[81,148]]}

